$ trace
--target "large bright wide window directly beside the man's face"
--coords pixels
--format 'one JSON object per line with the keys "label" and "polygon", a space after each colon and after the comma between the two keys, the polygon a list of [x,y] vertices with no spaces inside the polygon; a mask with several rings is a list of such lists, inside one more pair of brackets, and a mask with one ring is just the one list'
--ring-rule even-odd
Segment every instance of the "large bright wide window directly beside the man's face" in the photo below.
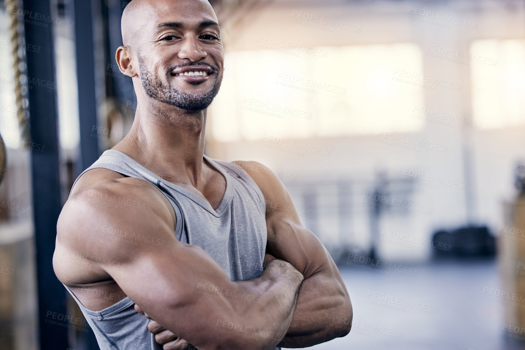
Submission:
{"label": "large bright wide window directly beside the man's face", "polygon": [[393,80],[396,71],[422,75],[417,45],[315,50],[316,54],[293,50],[226,54],[223,84],[209,109],[214,139],[259,140],[263,134],[306,138],[421,128],[422,121],[411,115],[415,106],[423,106],[423,88]]}

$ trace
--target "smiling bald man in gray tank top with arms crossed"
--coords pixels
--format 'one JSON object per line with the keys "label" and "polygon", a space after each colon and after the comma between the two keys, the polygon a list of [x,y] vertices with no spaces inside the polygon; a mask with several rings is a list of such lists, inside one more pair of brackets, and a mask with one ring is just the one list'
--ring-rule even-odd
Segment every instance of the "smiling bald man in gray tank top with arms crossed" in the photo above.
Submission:
{"label": "smiling bald man in gray tank top with arms crossed", "polygon": [[77,178],[53,258],[100,348],[275,349],[348,334],[339,271],[280,180],[203,155],[224,70],[213,8],[133,0],[122,37],[117,63],[143,108]]}

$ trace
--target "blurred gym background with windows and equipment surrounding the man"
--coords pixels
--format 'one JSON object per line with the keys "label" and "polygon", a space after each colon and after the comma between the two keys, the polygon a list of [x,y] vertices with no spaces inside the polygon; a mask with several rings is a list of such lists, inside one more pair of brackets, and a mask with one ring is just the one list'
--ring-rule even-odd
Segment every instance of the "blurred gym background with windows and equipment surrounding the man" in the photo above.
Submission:
{"label": "blurred gym background with windows and equipment surrounding the man", "polygon": [[[205,153],[281,178],[352,299],[350,334],[312,348],[525,348],[525,1],[210,2]],[[137,109],[126,5],[0,6],[2,350],[98,349],[51,257],[72,183]]]}

